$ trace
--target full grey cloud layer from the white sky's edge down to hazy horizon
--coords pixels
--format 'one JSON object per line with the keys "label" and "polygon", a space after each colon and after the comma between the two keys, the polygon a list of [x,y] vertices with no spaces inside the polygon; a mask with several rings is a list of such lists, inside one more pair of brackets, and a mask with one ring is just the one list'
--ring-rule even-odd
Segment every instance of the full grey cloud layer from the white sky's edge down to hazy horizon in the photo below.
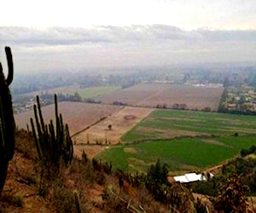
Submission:
{"label": "full grey cloud layer from the white sky's edge down to hazy horizon", "polygon": [[173,26],[0,27],[20,72],[91,66],[255,61],[256,31],[183,31]]}

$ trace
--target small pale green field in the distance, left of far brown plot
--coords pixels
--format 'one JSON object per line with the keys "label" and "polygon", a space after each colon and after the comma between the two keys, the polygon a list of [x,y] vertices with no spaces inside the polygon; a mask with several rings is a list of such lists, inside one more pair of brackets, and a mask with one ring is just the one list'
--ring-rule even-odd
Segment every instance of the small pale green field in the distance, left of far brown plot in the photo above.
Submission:
{"label": "small pale green field in the distance, left of far brown plot", "polygon": [[106,87],[90,87],[84,89],[72,89],[68,91],[69,95],[73,95],[75,92],[78,92],[82,99],[95,98],[99,95],[105,95],[112,93],[114,90],[120,89],[116,86],[106,86]]}

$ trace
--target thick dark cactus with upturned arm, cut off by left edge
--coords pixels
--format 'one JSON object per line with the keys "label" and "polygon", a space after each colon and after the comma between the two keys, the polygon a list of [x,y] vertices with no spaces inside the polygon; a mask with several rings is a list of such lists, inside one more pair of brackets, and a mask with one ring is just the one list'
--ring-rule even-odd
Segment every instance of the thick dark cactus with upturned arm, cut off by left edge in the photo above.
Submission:
{"label": "thick dark cactus with upturned arm, cut off by left edge", "polygon": [[8,62],[8,77],[3,74],[0,63],[0,196],[6,179],[9,161],[15,153],[15,118],[9,85],[14,77],[14,65],[11,49],[5,47]]}

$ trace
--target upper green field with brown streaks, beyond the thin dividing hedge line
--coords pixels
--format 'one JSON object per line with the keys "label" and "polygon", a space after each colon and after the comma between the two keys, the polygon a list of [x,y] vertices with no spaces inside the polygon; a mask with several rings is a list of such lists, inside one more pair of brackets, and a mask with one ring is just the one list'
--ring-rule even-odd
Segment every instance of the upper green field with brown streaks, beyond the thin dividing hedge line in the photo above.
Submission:
{"label": "upper green field with brown streaks, beyond the thin dividing hedge line", "polygon": [[[176,135],[174,135],[176,133]],[[126,142],[178,135],[256,134],[256,117],[217,112],[155,110],[123,136]]]}

